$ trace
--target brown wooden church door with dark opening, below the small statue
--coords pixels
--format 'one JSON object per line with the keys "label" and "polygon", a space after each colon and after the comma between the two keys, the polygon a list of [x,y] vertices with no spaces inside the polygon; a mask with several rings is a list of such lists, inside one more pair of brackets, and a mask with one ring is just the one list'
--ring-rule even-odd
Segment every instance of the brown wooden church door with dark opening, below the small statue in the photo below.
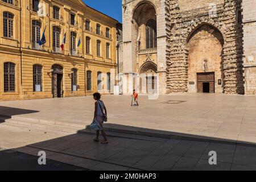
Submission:
{"label": "brown wooden church door with dark opening, below the small statue", "polygon": [[197,73],[197,92],[215,93],[214,72]]}

